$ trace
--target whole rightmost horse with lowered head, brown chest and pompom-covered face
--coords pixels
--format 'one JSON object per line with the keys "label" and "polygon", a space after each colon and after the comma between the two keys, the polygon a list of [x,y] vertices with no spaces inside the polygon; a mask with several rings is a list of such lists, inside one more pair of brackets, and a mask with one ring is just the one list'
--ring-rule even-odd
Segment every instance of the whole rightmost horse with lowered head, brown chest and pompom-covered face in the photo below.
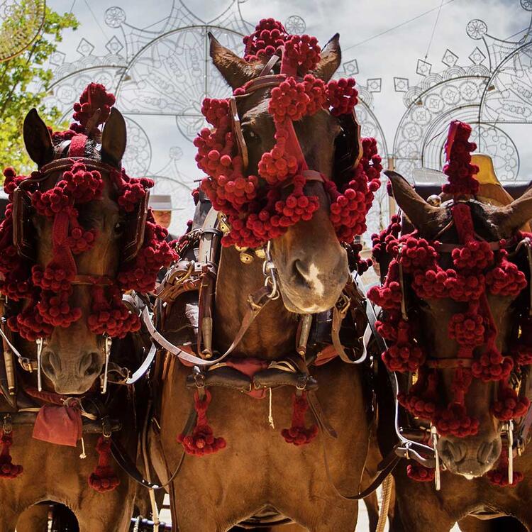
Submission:
{"label": "whole rightmost horse with lowered head, brown chest and pompom-covered face", "polygon": [[[410,462],[411,465],[407,469],[405,467],[406,461],[401,460],[399,466],[394,470],[396,506],[393,519],[391,519],[390,530],[421,532],[430,529],[434,532],[447,532],[457,521],[460,528],[467,532],[517,531],[523,529],[519,523],[522,523],[527,530],[532,530],[532,510],[523,504],[523,501],[531,497],[532,484],[528,475],[531,472],[532,455],[524,448],[528,439],[526,433],[522,436],[519,431],[524,426],[528,409],[525,384],[528,379],[527,362],[523,358],[514,358],[514,362],[511,362],[508,358],[495,354],[512,353],[512,355],[516,355],[516,350],[521,349],[523,352],[526,350],[523,345],[526,345],[528,333],[526,325],[523,323],[526,321],[526,314],[528,314],[526,309],[528,309],[529,295],[528,289],[525,287],[527,284],[526,277],[528,283],[530,282],[530,271],[526,254],[528,241],[522,240],[525,237],[519,233],[519,230],[532,218],[532,189],[528,189],[521,197],[506,206],[490,204],[490,201],[480,197],[482,196],[481,192],[478,192],[479,196],[476,195],[476,192],[475,194],[466,193],[462,196],[455,196],[454,199],[450,194],[444,193],[442,199],[431,196],[426,201],[397,172],[386,173],[392,184],[393,197],[404,213],[401,233],[404,235],[403,247],[399,251],[401,257],[404,256],[403,253],[409,253],[409,251],[404,251],[408,249],[404,246],[409,245],[406,239],[414,230],[416,230],[415,237],[421,239],[417,240],[416,245],[421,243],[423,246],[427,243],[427,256],[432,257],[431,253],[435,249],[437,250],[437,255],[435,255],[437,266],[435,264],[430,267],[425,265],[426,270],[420,268],[416,272],[413,272],[413,267],[406,265],[406,262],[401,266],[403,270],[399,274],[401,280],[397,283],[397,287],[399,287],[397,307],[394,308],[399,309],[399,317],[401,312],[404,312],[409,320],[409,325],[407,325],[411,331],[409,341],[411,343],[416,342],[411,345],[411,348],[422,348],[426,355],[422,355],[421,351],[416,351],[422,357],[419,359],[421,360],[419,364],[409,368],[396,366],[394,369],[402,372],[399,374],[399,383],[402,382],[403,384],[406,382],[405,372],[406,376],[411,375],[412,372],[417,372],[418,382],[416,384],[410,384],[409,389],[408,387],[401,388],[400,385],[403,395],[399,397],[399,402],[403,406],[406,404],[406,406],[417,406],[421,410],[428,409],[424,412],[419,410],[418,416],[422,419],[429,417],[433,426],[431,433],[426,432],[428,428],[423,429],[425,432],[421,439],[409,436],[411,429],[403,434],[406,438],[414,438],[414,441],[430,445],[428,443],[430,438],[439,433],[439,436],[436,436],[436,441],[432,440],[432,445],[436,447],[439,459],[444,466],[443,471],[440,472],[440,479],[438,479],[440,486],[436,487],[433,470],[420,467],[416,462]],[[440,203],[440,201],[442,202]],[[467,211],[462,218],[456,214],[457,211],[454,211],[455,214],[453,214],[453,209],[457,205],[458,209],[462,209],[462,214],[463,209],[469,209],[472,231],[474,231],[475,239],[482,243],[480,245],[483,246],[486,256],[492,256],[488,250],[491,248],[492,253],[494,253],[494,260],[499,261],[495,262],[496,267],[499,267],[497,270],[497,275],[500,275],[499,281],[501,279],[508,281],[509,279],[509,288],[501,289],[501,285],[499,285],[499,289],[494,288],[494,285],[490,284],[494,281],[494,277],[490,277],[489,274],[490,264],[491,267],[493,264],[488,261],[487,264],[481,265],[480,275],[477,275],[477,279],[470,281],[471,284],[467,284],[469,287],[478,286],[478,279],[482,278],[481,282],[484,282],[485,275],[486,286],[489,287],[484,308],[482,308],[484,303],[481,303],[482,323],[484,325],[481,333],[485,330],[487,334],[484,340],[482,337],[475,338],[475,342],[464,340],[464,337],[460,337],[460,334],[456,332],[449,334],[449,331],[453,331],[453,323],[462,319],[464,313],[467,312],[467,305],[471,305],[471,301],[478,297],[478,293],[477,296],[469,294],[468,297],[463,298],[457,297],[456,294],[451,296],[450,293],[454,289],[452,282],[446,285],[446,291],[444,290],[439,294],[431,292],[431,288],[435,285],[427,286],[425,292],[419,288],[419,282],[427,279],[425,272],[428,270],[449,272],[449,268],[455,267],[460,275],[467,275],[467,273],[463,273],[464,270],[459,269],[457,265],[460,263],[457,261],[463,249],[463,228],[469,227],[469,224]],[[394,220],[394,223],[396,223],[396,233],[394,234],[396,238],[399,238],[401,228],[397,225],[397,219]],[[440,244],[435,244],[435,240],[438,240]],[[380,241],[384,242],[384,240]],[[397,241],[401,242],[401,240]],[[507,247],[499,247],[504,246],[504,242],[508,243]],[[520,245],[520,242],[523,242],[523,245]],[[479,244],[472,244],[475,249],[477,245]],[[430,248],[430,246],[435,247]],[[390,250],[390,247],[388,246],[387,249]],[[473,252],[472,257],[475,257]],[[506,257],[508,257],[508,262],[506,262]],[[394,267],[397,267],[397,264]],[[482,270],[482,267],[485,270]],[[387,271],[389,275],[392,267],[389,267]],[[397,270],[395,271],[397,274]],[[509,272],[512,273],[509,274]],[[453,275],[451,273],[450,277]],[[513,275],[513,277],[504,277],[505,275]],[[397,275],[392,274],[392,277],[397,280]],[[444,281],[443,277],[445,274],[441,275],[441,279]],[[386,286],[390,287],[390,284],[387,283]],[[404,294],[402,303],[401,292]],[[371,297],[371,294],[368,295]],[[381,295],[382,292],[377,289],[377,299]],[[380,302],[386,304],[384,299],[381,299]],[[391,309],[392,307],[386,308]],[[474,311],[472,311],[473,313]],[[489,320],[489,316],[492,316],[492,321]],[[475,319],[474,314],[472,318]],[[454,329],[454,331],[456,330]],[[475,327],[472,326],[471,330],[474,331]],[[395,340],[389,336],[389,331],[387,332],[382,328],[380,332],[392,341],[393,345]],[[416,338],[416,340],[411,340],[411,338]],[[516,340],[516,338],[519,339]],[[468,341],[469,343],[467,343]],[[489,352],[491,353],[490,357],[493,358],[482,358],[483,354],[493,345],[493,350]],[[383,355],[384,362],[389,363],[387,357],[393,356],[392,349],[388,347]],[[468,351],[468,349],[472,351]],[[410,353],[414,353],[414,351],[410,351]],[[467,379],[467,371],[471,371],[475,375],[475,371],[480,368],[479,365],[475,365],[475,360],[481,360],[480,363],[484,363],[484,367],[489,367],[490,363],[493,365],[500,364],[500,366],[506,364],[504,370],[506,377],[508,377],[509,366],[511,366],[513,377],[508,381],[510,385],[505,387],[502,384],[505,381],[500,379],[498,368],[494,371],[494,377],[490,379]],[[431,375],[437,375],[437,377],[428,379],[426,365],[431,368]],[[457,368],[467,368],[467,370],[457,370]],[[458,371],[463,371],[464,374],[457,376]],[[458,377],[464,376],[465,381],[458,380]],[[461,386],[460,383],[462,382],[467,382],[467,384]],[[511,384],[515,386],[516,382],[521,382],[521,388],[517,387],[520,389],[519,394],[514,392],[514,388],[511,387]],[[379,394],[388,394],[389,402],[386,403],[384,409],[387,409],[389,417],[389,413],[393,412],[395,407],[391,401],[387,377],[384,377],[384,381],[380,382],[378,389]],[[407,392],[404,391],[405,389]],[[409,402],[409,397],[411,402]],[[454,418],[450,414],[445,414],[446,418],[441,415],[438,418],[437,412],[441,401],[449,401],[449,404],[453,405],[449,409],[455,413]],[[436,406],[436,410],[434,406]],[[509,410],[501,416],[501,408]],[[504,423],[505,420],[512,417],[519,420],[514,430]],[[400,419],[404,423],[405,418],[401,417]],[[448,425],[445,426],[442,421],[448,421]],[[449,430],[450,423],[455,421],[454,428],[456,430]],[[391,423],[393,423],[392,419],[384,421],[387,428],[391,426]],[[416,418],[414,421],[410,421],[410,425],[414,427],[412,430],[416,433],[417,428],[419,428],[419,420]],[[511,435],[508,435],[508,430],[512,431]],[[381,431],[381,427],[379,427],[379,431]],[[501,438],[503,431],[505,431],[504,436],[506,438]],[[386,451],[388,451],[392,436],[386,433],[386,430],[382,434],[384,434],[382,437],[386,441],[385,446],[387,447]],[[507,438],[509,436],[514,436],[515,441],[519,441],[519,453],[516,453],[516,445],[512,448],[511,443],[508,443]],[[417,450],[419,451],[419,447]],[[509,478],[511,471],[508,470],[508,453],[515,455],[513,457],[514,473],[511,478]],[[423,455],[423,453],[421,454]],[[408,451],[402,456],[412,458],[412,455],[408,455]],[[427,457],[427,453],[425,457]],[[499,460],[498,466],[497,460]],[[433,467],[433,465],[428,467]],[[524,473],[524,480],[517,483],[518,480],[521,480],[522,473]],[[428,482],[419,482],[420,480]],[[485,519],[494,519],[498,516],[513,516],[514,520],[507,517],[502,520],[485,521]]]}

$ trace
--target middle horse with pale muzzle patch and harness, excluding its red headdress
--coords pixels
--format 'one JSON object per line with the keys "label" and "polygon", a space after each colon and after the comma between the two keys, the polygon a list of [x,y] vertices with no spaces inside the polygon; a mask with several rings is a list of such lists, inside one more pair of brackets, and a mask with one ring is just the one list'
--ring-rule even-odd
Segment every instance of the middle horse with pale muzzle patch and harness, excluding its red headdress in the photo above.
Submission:
{"label": "middle horse with pale muzzle patch and harness, excluding its red headdress", "polygon": [[[264,28],[268,28],[268,33],[279,31],[284,35],[282,25],[272,20],[261,21],[254,35]],[[279,83],[276,77],[279,74],[271,73],[276,59],[243,60],[212,35],[210,39],[214,65],[235,94],[239,87],[257,83],[253,85],[253,89],[256,87],[253,94],[236,97],[236,107],[231,111],[231,116],[238,119],[237,131],[241,124],[242,137],[238,142],[247,158],[246,175],[256,175],[263,155],[272,150],[275,138],[279,138],[279,135],[274,138],[275,125],[269,111],[270,96],[275,92],[272,89],[270,94],[270,88]],[[251,42],[254,37],[248,39]],[[340,57],[336,35],[321,52],[321,59],[311,67],[312,74],[321,82],[328,82],[340,65]],[[259,77],[261,72],[265,77]],[[314,82],[309,78],[306,81]],[[214,109],[214,104],[204,104],[204,108],[206,105]],[[212,113],[215,120],[216,116],[222,116]],[[322,109],[301,121],[296,118],[294,128],[296,142],[309,167],[333,176],[335,149],[341,143],[338,138],[345,140],[338,118]],[[218,134],[221,126],[213,131],[213,135]],[[202,131],[201,138],[209,134],[209,131]],[[219,135],[224,135],[223,131]],[[287,140],[289,142],[292,140]],[[356,155],[353,139],[345,149],[350,156]],[[216,159],[217,155],[211,153],[209,157]],[[286,198],[289,190],[290,187],[284,187],[279,199]],[[226,223],[221,214],[216,221],[216,211],[209,211],[210,202],[200,194],[197,209],[204,211],[205,221],[201,226],[195,217],[192,231],[184,235],[182,248],[178,247],[182,261],[170,268],[162,292],[157,293],[158,323],[168,342],[163,346],[165,349],[157,353],[158,370],[154,372],[159,388],[149,435],[150,458],[162,482],[170,482],[172,523],[182,532],[199,528],[226,531],[242,522],[247,522],[247,527],[260,521],[264,525],[265,514],[270,518],[267,521],[270,526],[282,516],[284,521],[293,521],[309,531],[355,528],[358,502],[345,493],[360,488],[370,437],[367,411],[371,409],[371,399],[363,382],[365,373],[360,367],[346,365],[336,357],[326,364],[312,366],[310,377],[304,356],[294,356],[297,345],[303,347],[301,353],[305,353],[306,339],[301,341],[301,337],[308,337],[311,314],[327,313],[334,308],[349,280],[348,256],[331,224],[331,199],[323,183],[319,179],[307,180],[304,192],[318,199],[314,215],[287,224],[286,231],[279,231],[270,238],[265,248],[257,242],[247,246],[226,243],[221,248],[219,262],[207,252],[208,262],[204,262],[204,267],[216,262],[218,274],[213,291],[209,289],[209,275],[206,273],[202,277],[202,287],[207,287],[199,296],[199,314],[205,316],[203,324],[198,324],[194,318],[187,321],[194,315],[194,298],[177,304],[175,297],[171,297],[172,290],[177,287],[172,279],[181,278],[180,267],[186,263],[185,270],[189,273],[179,286],[187,282],[194,284],[191,280],[194,279],[193,275],[191,277],[194,263],[183,260],[187,257],[184,248],[194,240],[193,235],[199,235],[204,243],[211,243],[219,239],[228,223],[233,224],[233,229],[239,224],[234,219]],[[228,234],[226,232],[226,236]],[[248,237],[251,238],[249,233]],[[199,246],[203,257],[203,245]],[[213,250],[216,245],[208,244],[207,248]],[[253,252],[253,248],[257,250]],[[197,250],[194,253],[197,254]],[[166,292],[170,297],[166,297]],[[214,298],[212,313],[205,311],[209,309],[209,294]],[[214,324],[212,328],[211,323]],[[358,325],[363,331],[365,314],[359,318]],[[191,331],[191,338],[184,341],[184,335]],[[196,351],[194,346],[199,343],[199,333],[203,341]],[[183,350],[197,353],[196,358],[189,359],[192,362],[188,364],[180,363],[170,352],[172,344],[179,346],[173,352],[184,356],[185,363],[189,355]],[[198,365],[199,361],[201,366],[201,359],[197,357],[204,356],[204,361],[209,363],[209,359],[220,360],[216,353],[229,351],[231,357],[225,358],[218,367],[213,366],[214,371],[197,368],[191,375],[191,365]],[[254,370],[245,375],[244,368],[253,365],[258,366],[259,372]],[[269,380],[255,387],[255,392],[265,393],[268,401],[242,393],[253,392],[251,379],[255,383],[260,375],[266,379],[267,372],[270,372],[267,374]],[[301,379],[296,386],[299,394],[294,394],[297,375],[297,379]],[[308,389],[309,378],[319,383],[314,392]],[[209,387],[216,379],[220,386]],[[205,387],[201,382],[206,383]],[[289,382],[292,385],[279,386]],[[320,406],[314,409],[311,405],[311,408],[319,410],[317,415],[323,427],[315,439],[312,438],[316,429],[305,426],[309,419],[308,414],[305,418],[308,408],[305,401],[311,399],[311,395],[318,399]],[[288,409],[291,404],[295,406],[292,427],[283,431],[284,441],[278,428],[290,426]],[[211,425],[206,424],[207,405]],[[192,427],[194,419],[197,420],[195,428]],[[331,433],[335,433],[336,438],[329,436]],[[179,434],[179,441],[187,447],[186,455],[176,441]],[[289,445],[289,441],[299,445]]]}

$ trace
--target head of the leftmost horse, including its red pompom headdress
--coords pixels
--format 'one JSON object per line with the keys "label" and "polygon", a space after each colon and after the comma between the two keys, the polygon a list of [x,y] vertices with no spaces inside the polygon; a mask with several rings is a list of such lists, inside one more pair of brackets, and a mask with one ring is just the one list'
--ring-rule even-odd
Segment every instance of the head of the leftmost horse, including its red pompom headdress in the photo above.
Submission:
{"label": "head of the leftmost horse, including its red pompom headdress", "polygon": [[122,170],[126,123],[113,102],[90,84],[74,106],[79,123],[60,133],[33,109],[23,133],[39,170],[4,172],[13,205],[2,245],[14,245],[1,261],[1,290],[18,305],[8,325],[25,340],[23,353],[35,353],[37,342],[39,371],[60,394],[87,392],[104,365],[106,372],[111,338],[140,328],[123,292],[152,290],[173,256],[166,230],[147,211],[153,182]]}

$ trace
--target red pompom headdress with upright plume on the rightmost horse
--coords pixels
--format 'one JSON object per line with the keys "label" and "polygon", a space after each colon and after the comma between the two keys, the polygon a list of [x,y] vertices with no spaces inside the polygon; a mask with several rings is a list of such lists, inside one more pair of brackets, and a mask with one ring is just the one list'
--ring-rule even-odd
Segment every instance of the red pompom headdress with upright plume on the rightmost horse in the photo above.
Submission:
{"label": "red pompom headdress with upright plume on the rightmost horse", "polygon": [[[443,167],[448,183],[442,188],[455,199],[474,196],[479,189],[475,177],[479,169],[471,164],[470,155],[477,146],[469,141],[470,133],[471,127],[465,123],[450,124],[445,145],[447,162]],[[419,238],[417,231],[400,236],[396,217],[387,231],[372,237],[375,257],[378,259],[386,251],[392,262],[382,287],[372,287],[367,295],[384,311],[381,321],[377,321],[377,331],[389,343],[382,353],[384,364],[392,371],[418,372],[409,392],[399,393],[401,406],[413,416],[431,421],[441,436],[465,437],[475,435],[479,428],[479,421],[468,416],[465,407],[472,379],[499,382],[498,398],[492,404],[492,414],[497,419],[509,421],[526,414],[528,399],[518,398],[509,377],[512,370],[532,362],[526,356],[531,351],[532,337],[527,333],[531,330],[529,320],[525,320],[516,342],[518,347],[510,355],[500,353],[487,294],[516,297],[527,286],[527,279],[509,262],[504,241],[494,251],[488,242],[477,237],[467,203],[456,201],[450,210],[460,243],[451,253],[453,267],[446,270],[440,267],[439,242]],[[416,325],[406,321],[404,310],[401,311],[405,286],[401,286],[400,269],[410,276],[411,288],[420,299],[450,298],[467,303],[467,310],[454,314],[448,323],[448,336],[458,343],[458,360],[451,366],[455,368],[453,397],[447,405],[440,404],[437,386],[438,370],[448,366],[438,358],[428,359],[417,340]],[[475,353],[480,346],[484,347],[482,353]]]}

